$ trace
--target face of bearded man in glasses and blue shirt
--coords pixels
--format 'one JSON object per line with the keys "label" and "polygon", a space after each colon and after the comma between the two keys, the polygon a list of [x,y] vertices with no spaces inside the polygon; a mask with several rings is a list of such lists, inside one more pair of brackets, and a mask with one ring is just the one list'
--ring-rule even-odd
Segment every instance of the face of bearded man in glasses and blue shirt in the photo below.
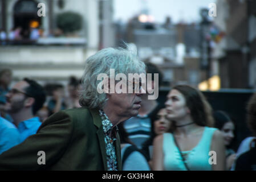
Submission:
{"label": "face of bearded man in glasses and blue shirt", "polygon": [[26,81],[19,81],[6,94],[6,110],[9,113],[18,113],[25,107],[27,98],[25,89],[29,86]]}

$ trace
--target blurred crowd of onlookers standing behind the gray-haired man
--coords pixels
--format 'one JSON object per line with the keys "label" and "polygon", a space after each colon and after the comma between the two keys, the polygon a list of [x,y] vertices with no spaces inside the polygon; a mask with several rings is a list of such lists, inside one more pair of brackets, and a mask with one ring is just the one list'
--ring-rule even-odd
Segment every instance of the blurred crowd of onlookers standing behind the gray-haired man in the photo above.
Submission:
{"label": "blurred crowd of onlookers standing behind the gray-haired man", "polygon": [[[146,67],[147,73],[159,74],[161,85],[162,73],[156,65],[147,63]],[[10,69],[0,71],[0,154],[35,134],[50,115],[81,107],[82,82],[74,76],[68,85],[41,86],[24,78],[10,88],[12,81]],[[224,110],[212,110],[199,90],[187,85],[174,86],[165,103],[148,100],[147,94],[141,96],[139,114],[118,125],[123,170],[252,169],[256,138],[244,139],[237,151],[231,148],[235,118]],[[255,94],[247,105],[247,112],[247,125],[255,134]],[[202,151],[209,150],[218,154],[212,161],[215,165],[210,165],[209,157],[201,155]],[[256,170],[255,166],[253,169]]]}

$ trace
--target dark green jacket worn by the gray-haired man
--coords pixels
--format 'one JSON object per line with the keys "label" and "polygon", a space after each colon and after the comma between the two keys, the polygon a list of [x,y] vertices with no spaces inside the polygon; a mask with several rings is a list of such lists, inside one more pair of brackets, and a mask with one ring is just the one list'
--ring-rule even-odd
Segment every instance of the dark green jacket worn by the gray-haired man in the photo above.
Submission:
{"label": "dark green jacket worn by the gray-haired man", "polygon": [[[118,134],[114,144],[121,170]],[[45,152],[45,164],[38,164],[39,151]],[[51,115],[35,135],[0,155],[0,170],[107,170],[99,111],[82,107]]]}

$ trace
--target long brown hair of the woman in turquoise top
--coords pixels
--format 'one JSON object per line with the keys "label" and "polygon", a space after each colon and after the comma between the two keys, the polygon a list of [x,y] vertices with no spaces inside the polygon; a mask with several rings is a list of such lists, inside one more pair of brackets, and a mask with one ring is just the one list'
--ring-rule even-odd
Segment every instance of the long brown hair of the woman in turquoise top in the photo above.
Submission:
{"label": "long brown hair of the woman in turquoise top", "polygon": [[197,125],[213,127],[212,107],[199,90],[189,85],[176,85],[172,89],[178,90],[185,97],[186,106]]}

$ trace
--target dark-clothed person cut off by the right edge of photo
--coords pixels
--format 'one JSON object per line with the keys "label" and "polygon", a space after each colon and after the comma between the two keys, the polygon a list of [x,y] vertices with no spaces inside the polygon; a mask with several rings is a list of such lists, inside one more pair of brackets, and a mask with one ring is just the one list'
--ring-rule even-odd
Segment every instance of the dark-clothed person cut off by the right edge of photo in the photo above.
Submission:
{"label": "dark-clothed person cut off by the right edge of photo", "polygon": [[[256,93],[251,96],[247,104],[247,126],[256,136]],[[250,141],[249,151],[237,156],[237,160],[234,164],[235,171],[256,171],[256,139],[253,138]]]}

